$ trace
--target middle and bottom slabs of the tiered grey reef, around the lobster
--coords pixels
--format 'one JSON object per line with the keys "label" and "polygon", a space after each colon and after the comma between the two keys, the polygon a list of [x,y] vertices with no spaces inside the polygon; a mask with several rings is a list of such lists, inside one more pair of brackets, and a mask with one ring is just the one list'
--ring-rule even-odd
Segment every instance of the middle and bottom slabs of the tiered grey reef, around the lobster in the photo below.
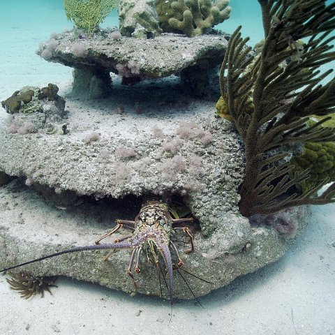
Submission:
{"label": "middle and bottom slabs of the tiered grey reef, around the lobster", "polygon": [[[17,181],[1,188],[1,267],[93,244],[116,218],[133,219],[140,196],[148,193],[182,198],[200,223],[194,232],[195,253],[182,252],[188,248],[184,234],[174,236],[185,268],[214,283],[188,276],[197,295],[283,255],[289,246],[285,228],[299,231],[308,220],[306,208],[255,218],[252,223],[241,217],[237,187],[244,157],[232,124],[214,118],[213,103],[185,98],[178,94],[178,86],[165,85],[117,86],[110,99],[79,105],[68,97],[66,135],[10,134],[8,114],[0,112],[0,170],[20,176],[27,185],[38,185],[48,200]],[[129,251],[113,253],[108,262],[101,253],[86,252],[27,269],[132,292],[133,283],[125,274],[128,260]],[[159,295],[156,267],[143,260],[136,280],[139,292]],[[177,274],[174,280],[174,295],[191,298]]]}

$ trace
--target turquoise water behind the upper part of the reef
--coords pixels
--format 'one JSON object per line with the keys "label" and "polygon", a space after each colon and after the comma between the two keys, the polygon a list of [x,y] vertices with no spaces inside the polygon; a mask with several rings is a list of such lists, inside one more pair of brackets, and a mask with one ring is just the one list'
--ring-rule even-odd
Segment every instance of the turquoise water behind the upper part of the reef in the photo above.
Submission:
{"label": "turquoise water behind the upper part of the reef", "polygon": [[[332,3],[334,0],[329,0]],[[38,57],[38,44],[53,32],[72,29],[66,20],[61,0],[1,0],[0,22],[0,98],[25,85],[41,86],[47,82],[70,82],[71,69]],[[216,29],[232,33],[240,24],[242,35],[251,38],[250,45],[263,38],[260,6],[256,0],[231,0],[230,19]],[[117,11],[106,18],[101,27],[118,25]],[[334,64],[333,64],[334,67]]]}

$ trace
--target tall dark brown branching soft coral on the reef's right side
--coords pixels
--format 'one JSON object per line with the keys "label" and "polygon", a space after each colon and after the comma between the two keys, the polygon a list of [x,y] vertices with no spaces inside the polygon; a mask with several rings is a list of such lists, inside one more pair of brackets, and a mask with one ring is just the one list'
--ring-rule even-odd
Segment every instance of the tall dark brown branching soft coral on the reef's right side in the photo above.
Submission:
{"label": "tall dark brown branching soft coral on the reef's right side", "polygon": [[[284,144],[335,140],[332,128],[320,126],[335,110],[335,78],[321,83],[332,70],[320,71],[322,64],[335,59],[329,45],[335,39],[329,37],[335,27],[335,3],[258,1],[265,29],[262,52],[253,61],[251,48],[246,47],[248,38],[241,38],[239,27],[229,40],[220,79],[221,95],[244,140],[246,170],[239,190],[239,210],[244,216],[335,201],[335,183],[321,195],[316,193],[325,180],[306,192],[289,193],[309,171],[296,171],[290,177],[292,165],[283,159],[288,156]],[[299,50],[292,47],[298,40],[304,40]],[[299,57],[295,57],[297,51]],[[250,97],[254,110],[248,114]],[[312,125],[311,114],[325,118]]]}

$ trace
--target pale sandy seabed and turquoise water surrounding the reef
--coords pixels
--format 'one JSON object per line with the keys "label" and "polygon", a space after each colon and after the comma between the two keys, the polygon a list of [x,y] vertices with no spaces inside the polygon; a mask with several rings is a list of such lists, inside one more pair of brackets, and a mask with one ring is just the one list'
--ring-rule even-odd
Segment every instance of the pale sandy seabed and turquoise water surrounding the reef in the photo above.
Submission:
{"label": "pale sandy seabed and turquoise water surrounding the reef", "polygon": [[[69,87],[72,69],[36,54],[38,44],[50,34],[73,28],[66,20],[63,1],[0,0],[0,5],[0,101],[27,85],[43,87],[53,82]],[[241,24],[242,35],[251,38],[249,45],[258,43],[263,38],[258,1],[231,0],[230,6],[230,19],[215,28],[231,34]],[[101,27],[117,24],[114,10]],[[129,297],[99,285],[59,278],[52,296],[46,293],[44,299],[26,301],[10,291],[0,276],[0,335],[334,335],[334,211],[334,204],[313,207],[310,225],[281,260],[202,297],[204,308],[196,301],[177,301],[171,322],[169,301],[155,297]]]}

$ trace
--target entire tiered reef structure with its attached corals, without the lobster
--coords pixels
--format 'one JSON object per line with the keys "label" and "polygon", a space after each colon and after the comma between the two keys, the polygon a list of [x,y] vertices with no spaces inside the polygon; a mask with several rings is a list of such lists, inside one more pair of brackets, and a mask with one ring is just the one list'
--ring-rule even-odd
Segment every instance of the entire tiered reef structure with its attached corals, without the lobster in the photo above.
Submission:
{"label": "entire tiered reef structure with its attached corals, without the lobster", "polygon": [[[97,3],[99,23],[112,5]],[[328,117],[310,118],[334,112],[334,80],[322,84],[329,71],[318,69],[334,59],[335,6],[259,3],[260,52],[239,30],[213,30],[228,18],[228,1],[121,1],[119,30],[82,24],[67,7],[75,29],[54,34],[38,54],[74,68],[73,93],[59,103],[50,83],[2,103],[1,267],[92,244],[117,218],[133,220],[147,195],[195,218],[195,253],[182,252],[183,234],[172,238],[185,269],[207,280],[187,277],[197,295],[281,258],[308,223],[304,204],[333,200],[334,185],[316,195],[326,179],[305,192],[310,171],[292,174],[292,161],[304,142],[334,140],[322,126]],[[17,206],[26,211],[8,221]],[[127,251],[107,262],[79,253],[25,270],[160,295],[156,267],[142,265],[135,289],[128,260]],[[193,297],[177,274],[174,281],[176,297]]]}

